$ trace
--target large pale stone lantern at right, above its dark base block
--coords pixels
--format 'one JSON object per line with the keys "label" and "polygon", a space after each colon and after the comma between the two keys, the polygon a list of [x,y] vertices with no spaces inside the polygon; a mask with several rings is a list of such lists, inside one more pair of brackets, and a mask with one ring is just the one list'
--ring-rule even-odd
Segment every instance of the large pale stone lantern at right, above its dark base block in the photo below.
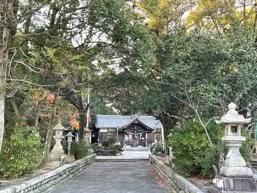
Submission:
{"label": "large pale stone lantern at right, above its dark base block", "polygon": [[246,137],[241,136],[241,124],[248,124],[251,118],[245,119],[243,115],[238,114],[233,102],[228,105],[228,109],[221,120],[216,120],[216,124],[225,124],[225,136],[222,137],[222,141],[229,148],[220,175],[226,178],[253,178],[252,170],[246,166],[239,151],[242,143],[246,141]]}

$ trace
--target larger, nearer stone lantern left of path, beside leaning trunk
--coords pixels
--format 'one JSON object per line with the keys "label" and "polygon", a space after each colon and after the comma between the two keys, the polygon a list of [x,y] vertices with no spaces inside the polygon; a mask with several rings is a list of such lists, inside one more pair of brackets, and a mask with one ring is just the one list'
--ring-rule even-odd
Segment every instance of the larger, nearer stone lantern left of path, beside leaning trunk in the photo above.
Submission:
{"label": "larger, nearer stone lantern left of path, beside leaning trunk", "polygon": [[61,123],[59,123],[56,127],[53,128],[54,130],[54,140],[56,144],[53,146],[53,149],[48,157],[52,167],[59,167],[63,164],[63,160],[66,159],[66,154],[64,154],[64,150],[61,144],[63,136],[64,127]]}

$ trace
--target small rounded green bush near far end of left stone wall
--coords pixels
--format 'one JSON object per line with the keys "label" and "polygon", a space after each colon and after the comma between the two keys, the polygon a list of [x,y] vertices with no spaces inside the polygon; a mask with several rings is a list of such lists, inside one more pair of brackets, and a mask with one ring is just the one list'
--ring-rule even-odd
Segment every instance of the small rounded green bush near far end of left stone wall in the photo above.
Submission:
{"label": "small rounded green bush near far end of left stone wall", "polygon": [[72,142],[70,153],[74,155],[75,159],[82,159],[83,157],[86,157],[89,155],[89,145],[85,141],[79,141],[79,142]]}

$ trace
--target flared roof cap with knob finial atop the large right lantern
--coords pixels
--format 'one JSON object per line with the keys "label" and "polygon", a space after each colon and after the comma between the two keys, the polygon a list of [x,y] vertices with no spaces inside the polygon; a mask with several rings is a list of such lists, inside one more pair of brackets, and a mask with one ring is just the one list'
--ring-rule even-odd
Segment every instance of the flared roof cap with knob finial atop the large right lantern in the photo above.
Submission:
{"label": "flared roof cap with knob finial atop the large right lantern", "polygon": [[243,115],[238,114],[238,112],[235,110],[236,104],[231,102],[228,105],[229,111],[226,115],[223,115],[221,120],[215,120],[216,124],[248,124],[252,118],[247,118]]}

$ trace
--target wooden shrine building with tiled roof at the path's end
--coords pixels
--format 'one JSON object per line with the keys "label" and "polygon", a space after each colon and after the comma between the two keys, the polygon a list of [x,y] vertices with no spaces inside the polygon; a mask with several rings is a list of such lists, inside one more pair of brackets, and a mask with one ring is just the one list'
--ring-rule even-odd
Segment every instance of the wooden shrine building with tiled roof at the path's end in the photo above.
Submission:
{"label": "wooden shrine building with tiled roof at the path's end", "polygon": [[[155,142],[155,130],[163,136],[161,122],[153,116],[97,115],[98,141],[114,137],[121,145],[148,146]],[[163,138],[163,137],[162,137]]]}

